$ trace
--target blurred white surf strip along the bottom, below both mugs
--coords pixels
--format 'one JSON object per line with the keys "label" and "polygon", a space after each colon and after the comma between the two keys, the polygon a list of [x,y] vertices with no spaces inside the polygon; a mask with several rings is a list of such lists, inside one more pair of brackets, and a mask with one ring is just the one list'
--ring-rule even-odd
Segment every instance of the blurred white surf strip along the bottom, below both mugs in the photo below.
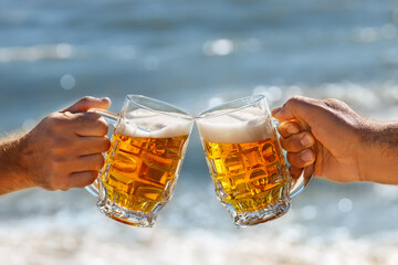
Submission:
{"label": "blurred white surf strip along the bottom, below both mugs", "polygon": [[[109,226],[92,224],[97,230]],[[322,236],[297,240],[294,224],[284,230],[170,231],[165,229],[123,230],[107,236],[87,231],[0,229],[0,263],[8,265],[396,265],[397,231],[352,239],[344,227],[334,231],[336,241],[325,243]]]}

